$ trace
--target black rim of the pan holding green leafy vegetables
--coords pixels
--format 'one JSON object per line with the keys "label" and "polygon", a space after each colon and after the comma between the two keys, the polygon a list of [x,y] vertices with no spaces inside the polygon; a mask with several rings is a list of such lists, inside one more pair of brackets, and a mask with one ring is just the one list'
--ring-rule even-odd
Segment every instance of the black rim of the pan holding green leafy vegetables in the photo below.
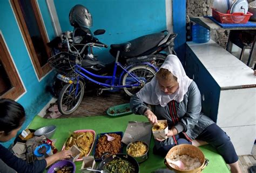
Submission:
{"label": "black rim of the pan holding green leafy vegetables", "polygon": [[103,170],[103,167],[105,164],[111,162],[112,160],[116,159],[116,158],[121,158],[123,160],[127,160],[129,161],[131,164],[134,165],[135,167],[135,171],[134,173],[139,173],[139,164],[138,162],[131,156],[129,155],[126,155],[126,154],[115,154],[115,155],[112,155],[112,156],[109,156],[109,157],[106,157],[104,158],[99,164],[98,164],[98,167],[97,169],[98,170]]}

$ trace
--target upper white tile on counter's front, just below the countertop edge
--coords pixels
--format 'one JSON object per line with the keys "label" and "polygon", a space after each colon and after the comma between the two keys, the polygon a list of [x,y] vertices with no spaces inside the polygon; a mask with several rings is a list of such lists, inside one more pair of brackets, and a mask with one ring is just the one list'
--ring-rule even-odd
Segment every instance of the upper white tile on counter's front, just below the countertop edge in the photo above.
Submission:
{"label": "upper white tile on counter's front, just below the countertop edge", "polygon": [[220,127],[255,125],[256,88],[220,91],[217,124]]}

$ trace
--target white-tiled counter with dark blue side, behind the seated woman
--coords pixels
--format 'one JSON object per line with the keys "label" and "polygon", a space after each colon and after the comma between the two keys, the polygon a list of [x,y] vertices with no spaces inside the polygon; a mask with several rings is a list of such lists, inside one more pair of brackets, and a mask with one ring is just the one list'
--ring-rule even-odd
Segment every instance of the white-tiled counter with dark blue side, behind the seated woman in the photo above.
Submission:
{"label": "white-tiled counter with dark blue side, behind the seated woman", "polygon": [[230,136],[238,155],[251,154],[256,131],[253,70],[212,40],[187,42],[185,62],[201,92],[202,111]]}

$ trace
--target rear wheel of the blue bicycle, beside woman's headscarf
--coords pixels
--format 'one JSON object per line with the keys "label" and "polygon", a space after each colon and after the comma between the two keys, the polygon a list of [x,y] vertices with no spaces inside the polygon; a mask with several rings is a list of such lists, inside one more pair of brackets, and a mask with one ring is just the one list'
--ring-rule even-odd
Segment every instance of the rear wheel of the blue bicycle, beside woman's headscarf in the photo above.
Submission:
{"label": "rear wheel of the blue bicycle, beside woman's headscarf", "polygon": [[129,73],[125,73],[123,77],[123,85],[138,84],[138,82],[133,77],[136,77],[136,79],[141,82],[139,86],[124,88],[124,91],[128,96],[133,96],[141,88],[143,88],[143,86],[147,82],[150,82],[154,75],[156,75],[156,70],[154,70],[152,67],[147,66],[146,64],[138,64],[136,66],[133,66],[128,70],[128,72]]}

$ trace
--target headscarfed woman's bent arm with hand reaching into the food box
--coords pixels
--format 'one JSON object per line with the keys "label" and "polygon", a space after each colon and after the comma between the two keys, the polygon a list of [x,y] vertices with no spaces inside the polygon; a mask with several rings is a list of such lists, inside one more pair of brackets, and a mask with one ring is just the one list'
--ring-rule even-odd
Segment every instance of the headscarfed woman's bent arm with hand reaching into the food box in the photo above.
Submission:
{"label": "headscarfed woman's bent arm with hand reaching into the food box", "polygon": [[132,96],[130,107],[134,114],[142,114],[146,116],[151,124],[157,123],[157,116],[137,97],[137,95]]}

